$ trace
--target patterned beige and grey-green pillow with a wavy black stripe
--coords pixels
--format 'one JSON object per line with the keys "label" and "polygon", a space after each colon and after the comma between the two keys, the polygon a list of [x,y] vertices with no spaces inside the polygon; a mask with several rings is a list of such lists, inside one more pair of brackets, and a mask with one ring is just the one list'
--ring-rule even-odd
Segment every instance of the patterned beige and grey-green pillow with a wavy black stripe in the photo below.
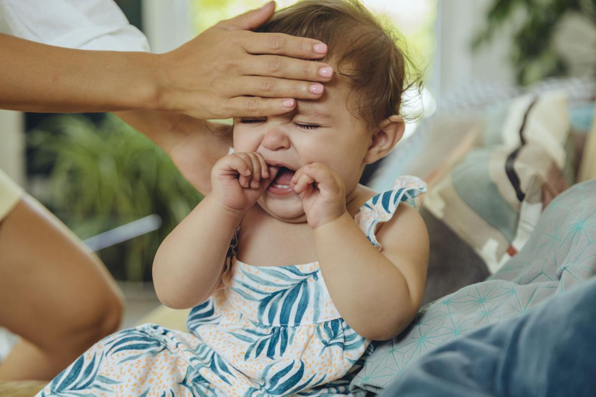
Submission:
{"label": "patterned beige and grey-green pillow with a wavy black stripe", "polygon": [[569,186],[563,173],[569,132],[562,92],[520,96],[493,112],[480,134],[485,146],[467,152],[424,199],[427,223],[440,221],[453,232],[451,242],[442,241],[442,233],[433,244],[429,230],[429,273],[441,261],[454,260],[447,252],[433,252],[441,246],[467,245],[489,273],[524,246],[544,207]]}

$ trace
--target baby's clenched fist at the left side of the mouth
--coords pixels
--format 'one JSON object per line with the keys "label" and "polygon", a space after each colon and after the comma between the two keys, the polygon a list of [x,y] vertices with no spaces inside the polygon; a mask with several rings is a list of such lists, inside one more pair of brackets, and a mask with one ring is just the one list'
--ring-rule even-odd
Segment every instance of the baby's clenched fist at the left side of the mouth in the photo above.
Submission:
{"label": "baby's clenched fist at the left side of the mouth", "polygon": [[259,153],[222,157],[211,171],[211,194],[228,210],[244,214],[275,179],[279,167],[269,167]]}

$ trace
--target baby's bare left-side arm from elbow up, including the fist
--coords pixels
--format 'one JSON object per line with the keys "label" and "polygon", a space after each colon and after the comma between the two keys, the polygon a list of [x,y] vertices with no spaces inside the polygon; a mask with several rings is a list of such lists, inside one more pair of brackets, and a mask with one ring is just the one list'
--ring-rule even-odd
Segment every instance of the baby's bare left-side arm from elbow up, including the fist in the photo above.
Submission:
{"label": "baby's bare left-side arm from elbow up, including the fist", "polygon": [[189,308],[212,293],[241,218],[277,171],[257,153],[235,153],[216,162],[212,192],[157,250],[153,281],[160,301],[175,309]]}

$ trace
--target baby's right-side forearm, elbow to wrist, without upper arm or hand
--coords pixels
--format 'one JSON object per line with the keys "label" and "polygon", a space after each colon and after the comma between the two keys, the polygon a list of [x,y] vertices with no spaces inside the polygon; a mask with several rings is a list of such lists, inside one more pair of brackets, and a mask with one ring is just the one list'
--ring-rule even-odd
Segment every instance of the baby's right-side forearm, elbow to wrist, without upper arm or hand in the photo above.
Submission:
{"label": "baby's right-side forearm, elbow to wrist, without upper arm or hand", "polygon": [[375,340],[401,332],[417,307],[399,268],[371,245],[347,212],[313,233],[325,285],[350,327]]}

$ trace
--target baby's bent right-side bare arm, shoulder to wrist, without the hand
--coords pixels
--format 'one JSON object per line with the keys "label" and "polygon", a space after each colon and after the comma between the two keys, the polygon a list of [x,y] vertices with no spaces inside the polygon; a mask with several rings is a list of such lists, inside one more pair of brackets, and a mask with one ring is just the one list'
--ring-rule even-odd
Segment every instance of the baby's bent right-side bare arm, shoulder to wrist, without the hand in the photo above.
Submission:
{"label": "baby's bent right-side bare arm, shoulder to wrist, without the hand", "polygon": [[346,214],[313,230],[327,289],[344,320],[360,335],[390,339],[420,308],[429,237],[416,210],[402,204],[383,224],[377,251]]}

